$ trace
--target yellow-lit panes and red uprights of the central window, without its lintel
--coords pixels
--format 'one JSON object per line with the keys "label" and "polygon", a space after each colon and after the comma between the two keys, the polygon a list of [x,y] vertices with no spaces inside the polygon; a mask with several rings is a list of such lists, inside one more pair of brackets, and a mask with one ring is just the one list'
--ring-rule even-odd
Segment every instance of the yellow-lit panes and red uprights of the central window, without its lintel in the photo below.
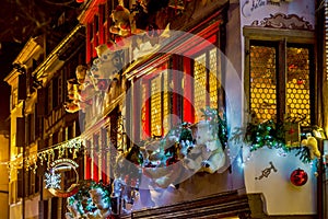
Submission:
{"label": "yellow-lit panes and red uprights of the central window, without its lintel", "polygon": [[[175,57],[173,68],[156,72],[142,79],[141,85],[141,139],[165,136],[167,131],[181,122],[197,123],[202,119],[201,108],[206,106],[219,110],[220,62],[218,49],[204,49],[195,58]],[[183,76],[183,77],[181,77]],[[148,95],[147,95],[148,94]],[[150,96],[145,100],[145,96]],[[220,103],[219,103],[220,102]]]}

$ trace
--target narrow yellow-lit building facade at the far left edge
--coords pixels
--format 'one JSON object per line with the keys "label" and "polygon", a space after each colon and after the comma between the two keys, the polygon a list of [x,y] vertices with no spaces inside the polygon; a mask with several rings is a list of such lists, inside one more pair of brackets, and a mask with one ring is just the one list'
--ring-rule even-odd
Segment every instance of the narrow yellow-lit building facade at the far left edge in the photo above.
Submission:
{"label": "narrow yellow-lit building facade at the far left edge", "polygon": [[[26,99],[26,69],[32,68],[33,60],[39,60],[43,58],[43,39],[42,37],[31,38],[21,54],[15,59],[16,68],[4,79],[11,85],[11,111],[10,111],[10,182],[9,182],[9,205],[10,217],[21,217],[23,214],[23,193],[34,195],[38,189],[32,189],[24,187],[23,175],[24,171],[21,162],[23,152],[26,149],[25,145],[25,99]],[[21,66],[25,65],[25,66]],[[31,150],[36,151],[35,145],[31,147]],[[17,161],[17,162],[16,162]],[[15,165],[17,163],[17,165]],[[24,175],[24,180],[27,173]],[[34,175],[33,175],[34,176]],[[31,178],[35,185],[35,178]],[[28,185],[26,183],[26,185]],[[27,189],[26,189],[27,188]],[[35,188],[35,187],[34,187]],[[24,191],[24,192],[23,192]],[[34,196],[35,198],[35,196]],[[34,200],[37,209],[38,200]],[[30,201],[31,204],[31,201]],[[25,203],[24,203],[25,207]],[[27,214],[28,215],[28,214]]]}

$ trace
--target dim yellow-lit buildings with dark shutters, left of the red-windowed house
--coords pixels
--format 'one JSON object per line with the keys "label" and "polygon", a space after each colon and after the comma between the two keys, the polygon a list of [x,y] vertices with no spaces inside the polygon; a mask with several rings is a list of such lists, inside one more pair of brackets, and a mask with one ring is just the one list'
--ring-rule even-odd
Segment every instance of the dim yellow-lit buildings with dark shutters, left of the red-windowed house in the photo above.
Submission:
{"label": "dim yellow-lit buildings with dark shutters, left of the red-windowed house", "polygon": [[[63,103],[68,101],[67,80],[84,60],[83,26],[61,35],[62,41],[49,53],[45,36],[31,38],[4,79],[12,89],[9,218],[65,217],[66,201],[44,189],[45,172],[55,157],[63,157],[60,142],[80,135],[78,114],[66,113]],[[78,171],[83,176],[83,164]],[[62,183],[74,177],[67,174]]]}

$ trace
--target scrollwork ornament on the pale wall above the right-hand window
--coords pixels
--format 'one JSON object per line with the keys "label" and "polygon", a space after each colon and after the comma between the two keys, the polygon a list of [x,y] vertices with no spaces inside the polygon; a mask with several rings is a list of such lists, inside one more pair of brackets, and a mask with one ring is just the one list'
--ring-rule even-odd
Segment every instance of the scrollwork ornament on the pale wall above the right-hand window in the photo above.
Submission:
{"label": "scrollwork ornament on the pale wall above the right-hand window", "polygon": [[265,18],[262,21],[255,20],[251,26],[263,26],[272,28],[291,28],[291,30],[314,30],[308,21],[300,18],[296,14],[276,13],[270,14],[270,18]]}

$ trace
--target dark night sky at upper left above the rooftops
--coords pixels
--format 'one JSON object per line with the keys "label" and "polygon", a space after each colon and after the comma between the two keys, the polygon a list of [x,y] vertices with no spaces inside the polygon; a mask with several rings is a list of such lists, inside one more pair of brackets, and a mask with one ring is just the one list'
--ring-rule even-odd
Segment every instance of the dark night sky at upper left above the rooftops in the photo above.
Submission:
{"label": "dark night sky at upper left above the rooftops", "polygon": [[10,87],[3,79],[30,37],[51,33],[59,14],[79,8],[75,0],[1,0],[0,7],[0,127],[9,116]]}

